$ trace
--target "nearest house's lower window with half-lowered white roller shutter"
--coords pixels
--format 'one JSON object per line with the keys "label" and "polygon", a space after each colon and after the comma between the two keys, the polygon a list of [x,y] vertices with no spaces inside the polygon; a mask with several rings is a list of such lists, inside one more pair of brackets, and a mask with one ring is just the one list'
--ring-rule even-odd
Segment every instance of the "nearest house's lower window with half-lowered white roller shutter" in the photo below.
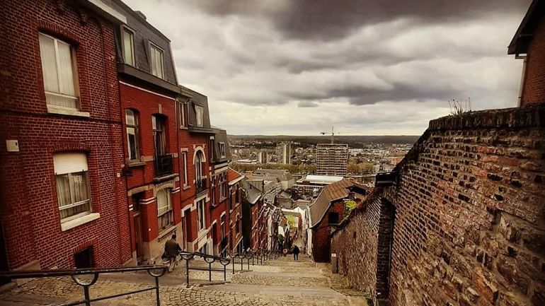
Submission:
{"label": "nearest house's lower window with half-lowered white roller shutter", "polygon": [[90,213],[91,193],[85,153],[57,153],[53,155],[53,164],[61,222]]}

